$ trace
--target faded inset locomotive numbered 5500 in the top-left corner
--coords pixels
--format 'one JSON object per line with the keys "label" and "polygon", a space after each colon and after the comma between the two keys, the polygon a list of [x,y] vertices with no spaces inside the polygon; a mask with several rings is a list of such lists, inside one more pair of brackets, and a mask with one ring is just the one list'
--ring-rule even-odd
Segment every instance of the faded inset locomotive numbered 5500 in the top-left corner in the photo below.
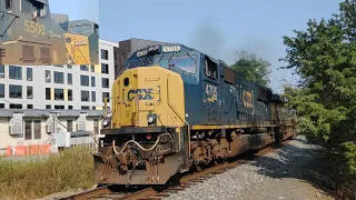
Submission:
{"label": "faded inset locomotive numbered 5500 in the top-left corner", "polygon": [[98,64],[98,24],[58,16],[48,0],[0,0],[0,64]]}

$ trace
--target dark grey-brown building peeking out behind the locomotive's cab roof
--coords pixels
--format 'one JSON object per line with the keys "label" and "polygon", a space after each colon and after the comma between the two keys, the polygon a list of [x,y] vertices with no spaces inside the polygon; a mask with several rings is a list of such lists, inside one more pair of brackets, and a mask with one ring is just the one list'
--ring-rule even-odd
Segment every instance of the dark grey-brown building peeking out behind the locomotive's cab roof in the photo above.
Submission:
{"label": "dark grey-brown building peeking out behind the locomotive's cab roof", "polygon": [[116,50],[118,53],[117,54],[118,62],[115,68],[116,69],[115,77],[117,78],[120,74],[120,72],[123,70],[126,60],[129,59],[131,54],[137,50],[144,49],[148,46],[170,44],[170,43],[172,42],[144,40],[144,39],[137,39],[137,38],[119,41],[119,48]]}

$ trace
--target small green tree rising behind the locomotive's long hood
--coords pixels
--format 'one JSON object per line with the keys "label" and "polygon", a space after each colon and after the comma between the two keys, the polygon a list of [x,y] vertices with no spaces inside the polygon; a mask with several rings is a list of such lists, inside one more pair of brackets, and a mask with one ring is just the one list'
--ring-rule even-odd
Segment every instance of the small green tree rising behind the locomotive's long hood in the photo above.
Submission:
{"label": "small green tree rising behind the locomotive's long hood", "polygon": [[267,87],[269,83],[270,63],[247,51],[240,51],[238,56],[238,60],[230,68],[247,80]]}

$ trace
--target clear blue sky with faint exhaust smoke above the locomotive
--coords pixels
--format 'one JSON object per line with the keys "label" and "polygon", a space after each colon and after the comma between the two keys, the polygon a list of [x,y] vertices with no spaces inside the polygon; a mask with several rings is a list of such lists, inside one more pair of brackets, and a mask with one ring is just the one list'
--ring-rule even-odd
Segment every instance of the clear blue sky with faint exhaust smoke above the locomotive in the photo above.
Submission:
{"label": "clear blue sky with faint exhaust smoke above the locomotive", "polygon": [[[277,70],[286,56],[283,36],[305,30],[309,19],[328,19],[340,0],[50,0],[70,19],[98,20],[100,38],[179,42],[228,64],[246,50],[271,63],[269,87],[280,92],[291,70]],[[66,6],[63,6],[66,4]],[[70,7],[68,7],[70,4]],[[55,8],[56,7],[56,8]],[[79,9],[78,9],[79,8]]]}

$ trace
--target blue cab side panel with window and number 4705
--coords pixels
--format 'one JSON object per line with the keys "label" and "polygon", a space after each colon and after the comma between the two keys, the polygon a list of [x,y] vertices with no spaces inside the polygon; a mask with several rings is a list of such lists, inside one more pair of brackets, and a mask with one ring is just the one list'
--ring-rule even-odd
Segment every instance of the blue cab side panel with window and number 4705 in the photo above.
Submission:
{"label": "blue cab side panel with window and number 4705", "polygon": [[202,113],[205,124],[220,123],[221,92],[219,90],[218,63],[209,57],[204,58],[202,71]]}

